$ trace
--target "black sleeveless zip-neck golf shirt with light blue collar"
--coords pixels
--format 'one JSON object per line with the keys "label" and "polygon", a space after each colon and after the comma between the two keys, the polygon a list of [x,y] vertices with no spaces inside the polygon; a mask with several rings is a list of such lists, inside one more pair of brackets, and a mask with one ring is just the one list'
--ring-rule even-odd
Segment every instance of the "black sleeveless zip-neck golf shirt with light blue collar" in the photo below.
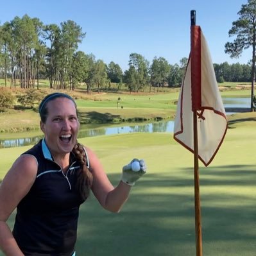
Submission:
{"label": "black sleeveless zip-neck golf shirt with light blue collar", "polygon": [[13,236],[26,256],[71,256],[83,203],[75,189],[80,163],[71,153],[64,175],[44,139],[24,154],[37,159],[38,171],[30,191],[17,205]]}

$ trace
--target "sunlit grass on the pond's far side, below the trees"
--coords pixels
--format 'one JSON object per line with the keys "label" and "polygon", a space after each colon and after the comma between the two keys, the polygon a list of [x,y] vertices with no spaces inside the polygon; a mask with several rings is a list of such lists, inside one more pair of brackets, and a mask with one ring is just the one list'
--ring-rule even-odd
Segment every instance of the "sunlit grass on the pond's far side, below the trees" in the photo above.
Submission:
{"label": "sunlit grass on the pond's far side, below the trees", "polygon": [[[46,90],[46,89],[44,89]],[[52,92],[46,90],[46,93]],[[166,93],[101,93],[88,96],[85,90],[67,91],[78,105],[80,122],[83,123],[121,123],[173,119],[179,89],[168,89]],[[250,97],[250,89],[223,90],[221,96]],[[40,132],[38,113],[32,110],[8,110],[0,113],[0,137],[3,133]]]}

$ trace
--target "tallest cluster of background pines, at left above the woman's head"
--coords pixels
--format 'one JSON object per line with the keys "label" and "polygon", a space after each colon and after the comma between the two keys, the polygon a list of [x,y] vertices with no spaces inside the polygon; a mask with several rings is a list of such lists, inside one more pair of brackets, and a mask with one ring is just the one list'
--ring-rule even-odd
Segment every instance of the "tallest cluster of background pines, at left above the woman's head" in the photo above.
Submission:
{"label": "tallest cluster of background pines, at left above the woman's head", "polygon": [[[74,89],[73,60],[85,33],[74,21],[44,25],[28,15],[15,17],[1,28],[1,66],[11,87],[19,79],[21,88],[34,88],[39,73],[49,78],[50,87]],[[6,84],[6,82],[5,82]],[[38,87],[38,80],[37,80]]]}

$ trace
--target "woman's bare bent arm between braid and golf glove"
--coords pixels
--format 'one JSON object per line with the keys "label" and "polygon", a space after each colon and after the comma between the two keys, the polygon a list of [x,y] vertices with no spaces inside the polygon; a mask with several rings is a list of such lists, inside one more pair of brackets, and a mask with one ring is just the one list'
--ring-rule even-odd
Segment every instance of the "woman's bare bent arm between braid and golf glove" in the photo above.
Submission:
{"label": "woman's bare bent arm between braid and golf glove", "polygon": [[93,176],[92,192],[99,203],[111,212],[119,212],[128,198],[131,186],[119,182],[117,187],[108,180],[105,170],[95,153],[86,148],[90,160],[90,171]]}

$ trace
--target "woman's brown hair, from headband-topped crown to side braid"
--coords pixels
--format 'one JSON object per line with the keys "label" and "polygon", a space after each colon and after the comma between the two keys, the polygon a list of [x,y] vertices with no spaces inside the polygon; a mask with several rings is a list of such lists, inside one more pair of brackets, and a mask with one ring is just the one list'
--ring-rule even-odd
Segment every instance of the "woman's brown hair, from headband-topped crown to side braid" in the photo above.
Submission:
{"label": "woman's brown hair, from headband-topped crown to side braid", "polygon": [[[69,96],[68,94],[58,93],[58,92],[49,94],[46,96],[46,98],[42,100],[42,102],[39,105],[39,114],[40,114],[40,119],[42,123],[46,123],[46,119],[48,115],[47,103],[56,98],[71,99],[71,101],[73,101],[76,107],[76,103],[74,102],[74,99],[71,98],[71,96]],[[76,115],[78,115],[77,110],[76,110]],[[89,196],[90,188],[92,187],[92,180],[93,180],[92,173],[90,173],[87,167],[87,157],[86,157],[85,149],[83,148],[83,145],[76,140],[76,144],[74,145],[74,148],[72,151],[75,157],[81,163],[81,168],[78,170],[78,173],[77,173],[78,178],[76,180],[76,189],[80,193],[81,198],[85,200]]]}

